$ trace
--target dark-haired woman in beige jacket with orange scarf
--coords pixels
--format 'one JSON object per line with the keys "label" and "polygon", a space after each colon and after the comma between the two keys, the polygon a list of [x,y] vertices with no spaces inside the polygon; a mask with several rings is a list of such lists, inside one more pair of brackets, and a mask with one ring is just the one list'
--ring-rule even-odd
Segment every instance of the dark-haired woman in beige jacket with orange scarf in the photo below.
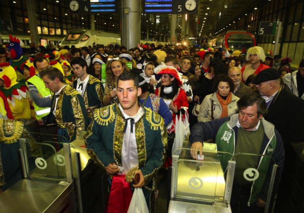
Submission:
{"label": "dark-haired woman in beige jacket with orange scarf", "polygon": [[214,93],[207,95],[201,103],[197,117],[199,122],[228,117],[238,110],[237,101],[240,98],[233,95],[234,84],[228,75],[218,75],[212,89]]}

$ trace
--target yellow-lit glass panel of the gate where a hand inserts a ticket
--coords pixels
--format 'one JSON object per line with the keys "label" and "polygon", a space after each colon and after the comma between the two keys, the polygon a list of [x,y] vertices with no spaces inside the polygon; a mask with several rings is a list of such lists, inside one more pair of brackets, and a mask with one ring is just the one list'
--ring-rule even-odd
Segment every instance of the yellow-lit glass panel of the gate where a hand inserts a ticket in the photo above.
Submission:
{"label": "yellow-lit glass panel of the gate where a hand inserts a ticket", "polygon": [[202,150],[203,158],[195,160],[190,151],[189,148],[179,148],[172,154],[172,186],[175,187],[173,196],[179,200],[187,199],[197,203],[223,202],[226,183],[221,160],[225,156],[227,160],[234,161],[233,155]]}

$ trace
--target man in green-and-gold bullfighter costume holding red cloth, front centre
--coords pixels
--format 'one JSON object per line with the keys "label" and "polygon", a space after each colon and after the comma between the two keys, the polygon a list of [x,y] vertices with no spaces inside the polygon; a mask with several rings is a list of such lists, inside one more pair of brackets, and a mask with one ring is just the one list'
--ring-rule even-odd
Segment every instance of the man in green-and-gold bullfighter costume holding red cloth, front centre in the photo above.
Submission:
{"label": "man in green-and-gold bullfighter costume holding red cloth, front centre", "polygon": [[95,110],[85,135],[89,155],[112,179],[107,212],[127,212],[132,197],[128,182],[135,175],[139,181],[132,186],[143,188],[150,212],[156,212],[157,171],[168,138],[161,116],[138,105],[140,94],[137,76],[123,72],[117,80],[119,103]]}

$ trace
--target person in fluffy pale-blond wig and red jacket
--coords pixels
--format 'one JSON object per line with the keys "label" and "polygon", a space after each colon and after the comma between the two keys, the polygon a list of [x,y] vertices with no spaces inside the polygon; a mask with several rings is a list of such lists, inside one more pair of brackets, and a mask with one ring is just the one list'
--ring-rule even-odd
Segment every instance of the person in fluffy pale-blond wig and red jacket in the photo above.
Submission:
{"label": "person in fluffy pale-blond wig and red jacket", "polygon": [[241,69],[243,81],[245,82],[249,75],[258,74],[264,69],[269,68],[264,65],[265,53],[262,47],[250,47],[247,51],[246,60],[250,62],[249,65]]}

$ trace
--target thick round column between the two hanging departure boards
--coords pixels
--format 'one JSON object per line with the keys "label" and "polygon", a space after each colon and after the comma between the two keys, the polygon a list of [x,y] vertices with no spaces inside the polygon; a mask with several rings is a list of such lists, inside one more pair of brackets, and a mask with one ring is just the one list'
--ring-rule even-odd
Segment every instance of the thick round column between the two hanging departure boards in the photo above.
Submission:
{"label": "thick round column between the two hanging departure boards", "polygon": [[127,49],[140,44],[140,1],[123,0],[122,45]]}

